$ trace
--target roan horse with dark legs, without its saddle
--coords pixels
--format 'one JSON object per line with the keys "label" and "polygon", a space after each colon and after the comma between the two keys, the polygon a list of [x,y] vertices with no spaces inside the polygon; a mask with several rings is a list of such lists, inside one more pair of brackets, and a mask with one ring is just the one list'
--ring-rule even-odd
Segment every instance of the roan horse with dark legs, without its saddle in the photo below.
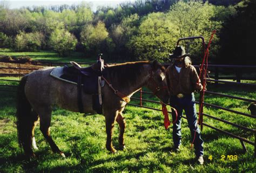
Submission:
{"label": "roan horse with dark legs, without its saddle", "polygon": [[[50,136],[52,106],[59,106],[73,112],[78,112],[77,85],[70,84],[50,76],[54,67],[31,72],[22,78],[18,87],[17,130],[18,141],[25,155],[35,157],[33,149],[37,149],[34,129],[40,122],[40,130],[51,149],[65,157]],[[169,100],[169,91],[165,78],[165,68],[157,61],[139,61],[133,63],[106,65],[104,78],[114,89],[130,98],[143,86],[149,88],[163,103]],[[119,124],[119,145],[125,148],[125,119],[122,112],[127,104],[113,92],[109,85],[102,88],[103,115],[106,125],[106,149],[112,153],[112,129],[114,121]],[[92,96],[82,93],[84,113],[96,113],[92,109]],[[111,100],[111,101],[110,101]]]}

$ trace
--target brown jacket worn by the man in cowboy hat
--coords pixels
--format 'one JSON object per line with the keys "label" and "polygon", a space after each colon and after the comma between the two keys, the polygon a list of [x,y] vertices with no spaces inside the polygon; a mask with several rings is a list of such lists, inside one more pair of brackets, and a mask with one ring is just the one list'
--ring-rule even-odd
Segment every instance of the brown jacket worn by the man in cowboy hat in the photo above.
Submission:
{"label": "brown jacket worn by the man in cowboy hat", "polygon": [[196,68],[191,63],[182,67],[180,73],[177,72],[174,65],[166,69],[166,77],[171,95],[191,94],[196,91],[198,74]]}

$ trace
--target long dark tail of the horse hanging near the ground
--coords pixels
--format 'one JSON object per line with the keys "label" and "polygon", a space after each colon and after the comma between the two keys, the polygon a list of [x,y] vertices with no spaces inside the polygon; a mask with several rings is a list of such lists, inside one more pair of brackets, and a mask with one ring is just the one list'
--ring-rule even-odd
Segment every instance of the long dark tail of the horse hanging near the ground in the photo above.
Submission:
{"label": "long dark tail of the horse hanging near the ground", "polygon": [[28,76],[22,78],[18,86],[17,95],[17,131],[19,147],[26,155],[34,156],[32,151],[32,131],[38,115],[32,112],[31,105],[25,95],[25,84]]}

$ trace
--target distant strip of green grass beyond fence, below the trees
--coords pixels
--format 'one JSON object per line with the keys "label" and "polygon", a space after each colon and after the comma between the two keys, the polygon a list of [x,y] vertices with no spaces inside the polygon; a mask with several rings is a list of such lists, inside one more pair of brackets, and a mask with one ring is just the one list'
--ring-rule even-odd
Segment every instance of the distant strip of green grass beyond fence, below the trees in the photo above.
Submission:
{"label": "distant strip of green grass beyond fence, below the trees", "polygon": [[82,52],[72,52],[68,57],[60,57],[58,53],[53,51],[39,51],[39,52],[14,52],[10,49],[0,49],[0,55],[11,56],[11,57],[21,57],[29,56],[34,61],[51,61],[56,62],[69,62],[77,61],[79,63],[95,63],[97,57],[85,57]]}

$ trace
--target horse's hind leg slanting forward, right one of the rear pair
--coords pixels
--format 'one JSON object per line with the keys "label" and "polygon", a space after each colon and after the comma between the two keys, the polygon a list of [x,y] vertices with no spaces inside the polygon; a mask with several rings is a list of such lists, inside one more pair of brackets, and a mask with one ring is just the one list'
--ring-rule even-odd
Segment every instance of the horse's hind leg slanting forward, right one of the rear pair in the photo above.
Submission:
{"label": "horse's hind leg slanting forward, right one of the rear pair", "polygon": [[56,143],[52,140],[50,136],[50,124],[51,124],[51,110],[43,111],[43,114],[39,114],[40,116],[40,130],[43,133],[46,141],[50,144],[51,149],[54,153],[59,153],[62,157],[65,157],[64,153],[59,150]]}

